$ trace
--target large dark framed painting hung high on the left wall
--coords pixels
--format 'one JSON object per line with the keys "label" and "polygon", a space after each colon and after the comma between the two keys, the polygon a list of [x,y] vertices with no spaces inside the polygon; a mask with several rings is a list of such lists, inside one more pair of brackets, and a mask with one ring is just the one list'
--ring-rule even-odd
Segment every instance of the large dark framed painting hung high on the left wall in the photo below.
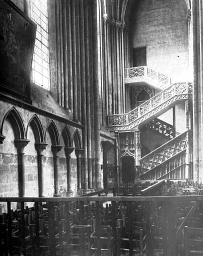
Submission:
{"label": "large dark framed painting hung high on the left wall", "polygon": [[10,0],[0,0],[0,90],[26,98],[36,24]]}

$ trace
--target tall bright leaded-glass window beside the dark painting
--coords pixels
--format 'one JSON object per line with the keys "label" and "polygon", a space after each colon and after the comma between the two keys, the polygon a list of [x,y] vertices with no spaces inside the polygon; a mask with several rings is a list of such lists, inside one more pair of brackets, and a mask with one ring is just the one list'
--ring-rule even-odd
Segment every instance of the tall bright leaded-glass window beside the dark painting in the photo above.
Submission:
{"label": "tall bright leaded-glass window beside the dark painting", "polygon": [[37,24],[32,60],[32,81],[49,88],[47,0],[32,0],[32,20]]}

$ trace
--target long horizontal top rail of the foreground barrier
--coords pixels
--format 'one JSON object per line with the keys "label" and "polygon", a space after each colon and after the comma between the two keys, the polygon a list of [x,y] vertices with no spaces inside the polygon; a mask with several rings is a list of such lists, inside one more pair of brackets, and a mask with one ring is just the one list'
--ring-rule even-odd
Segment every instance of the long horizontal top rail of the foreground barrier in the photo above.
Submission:
{"label": "long horizontal top rail of the foreground barrier", "polygon": [[[108,201],[199,201],[203,195],[152,195],[152,196],[108,196]],[[1,202],[72,202],[72,201],[106,201],[106,196],[74,197],[0,197]]]}

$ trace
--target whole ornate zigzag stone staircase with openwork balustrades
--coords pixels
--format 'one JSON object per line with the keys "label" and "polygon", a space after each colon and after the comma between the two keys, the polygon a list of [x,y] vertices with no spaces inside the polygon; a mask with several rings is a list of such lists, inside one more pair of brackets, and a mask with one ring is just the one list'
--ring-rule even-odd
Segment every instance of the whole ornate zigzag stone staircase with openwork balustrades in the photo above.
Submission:
{"label": "whole ornate zigzag stone staircase with openwork balustrades", "polygon": [[[155,96],[146,100],[128,113],[106,116],[106,127],[117,131],[119,137],[124,132],[135,132],[135,162],[139,155],[139,129],[151,129],[170,139],[162,146],[139,159],[141,179],[185,178],[188,177],[188,148],[190,131],[181,134],[175,132],[172,125],[156,117],[166,112],[175,104],[192,99],[192,83],[176,82],[171,84],[167,75],[154,71],[147,66],[125,68],[125,83],[145,82],[162,89]],[[143,127],[144,126],[144,127]],[[186,128],[186,127],[185,127]],[[137,133],[138,132],[138,133]]]}

